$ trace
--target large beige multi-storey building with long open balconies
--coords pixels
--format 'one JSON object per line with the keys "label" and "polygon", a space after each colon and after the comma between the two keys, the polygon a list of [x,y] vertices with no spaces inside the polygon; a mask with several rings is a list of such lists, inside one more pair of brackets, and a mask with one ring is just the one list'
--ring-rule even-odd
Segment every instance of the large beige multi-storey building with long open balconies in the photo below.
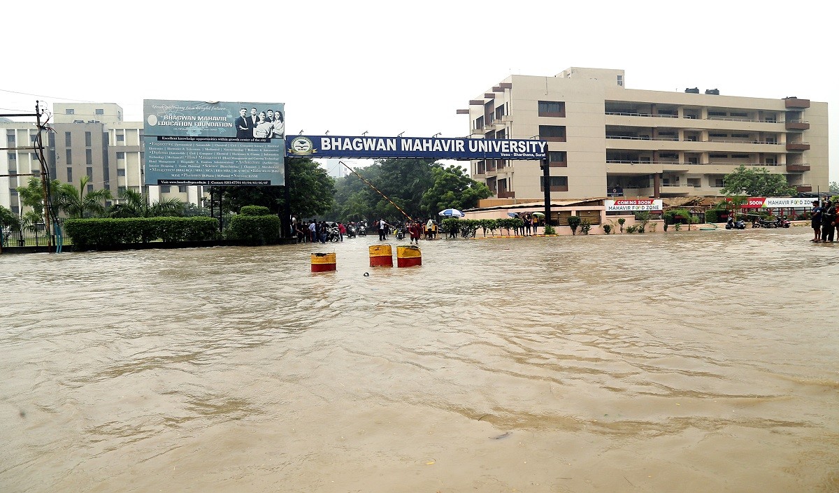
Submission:
{"label": "large beige multi-storey building with long open balconies", "polygon": [[[627,89],[623,70],[510,75],[469,101],[473,138],[549,143],[551,196],[722,196],[741,164],[784,174],[800,192],[826,190],[827,103],[727,96],[718,89]],[[539,163],[472,161],[499,199],[543,200]]]}

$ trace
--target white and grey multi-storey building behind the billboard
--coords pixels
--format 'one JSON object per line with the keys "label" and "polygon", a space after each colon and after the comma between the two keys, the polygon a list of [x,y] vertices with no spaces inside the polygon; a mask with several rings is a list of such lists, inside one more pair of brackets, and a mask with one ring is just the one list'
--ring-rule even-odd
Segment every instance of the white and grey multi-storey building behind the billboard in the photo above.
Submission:
{"label": "white and grey multi-storey building behind the billboard", "polygon": [[[148,193],[149,200],[179,199],[198,204],[202,187],[143,184],[143,122],[123,122],[122,107],[113,103],[55,103],[49,122],[52,129],[44,141],[44,157],[50,177],[79,185],[89,176],[88,190],[109,189],[118,201],[120,189]],[[40,163],[34,150],[38,133],[34,122],[0,122],[0,205],[15,214],[24,212],[18,201],[18,186],[37,176]]]}

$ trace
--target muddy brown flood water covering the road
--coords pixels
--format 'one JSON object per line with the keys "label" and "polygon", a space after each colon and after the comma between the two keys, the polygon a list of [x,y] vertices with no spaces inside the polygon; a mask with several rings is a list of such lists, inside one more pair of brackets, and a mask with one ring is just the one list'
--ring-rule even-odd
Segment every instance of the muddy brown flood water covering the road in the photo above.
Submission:
{"label": "muddy brown flood water covering the road", "polygon": [[3,255],[0,491],[839,491],[810,237]]}

